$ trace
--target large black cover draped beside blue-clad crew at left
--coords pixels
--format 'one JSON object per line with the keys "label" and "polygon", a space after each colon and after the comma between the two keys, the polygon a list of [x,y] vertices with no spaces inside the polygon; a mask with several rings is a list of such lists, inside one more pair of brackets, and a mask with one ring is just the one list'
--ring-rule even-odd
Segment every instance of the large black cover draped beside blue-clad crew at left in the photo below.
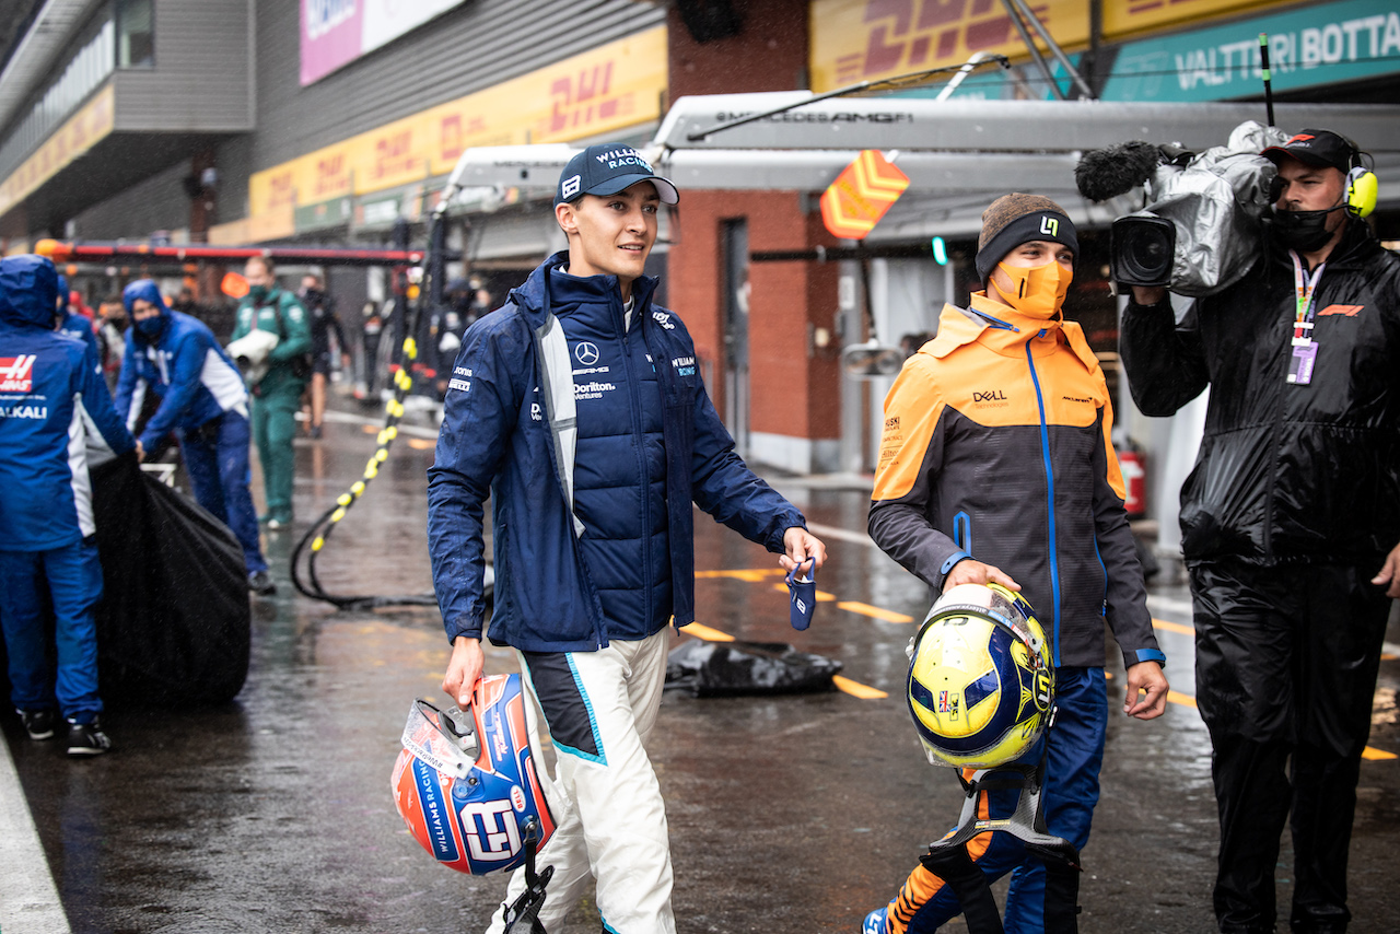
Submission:
{"label": "large black cover draped beside blue-clad crew at left", "polygon": [[91,471],[102,700],[223,703],[248,678],[252,615],[238,539],[129,455]]}

